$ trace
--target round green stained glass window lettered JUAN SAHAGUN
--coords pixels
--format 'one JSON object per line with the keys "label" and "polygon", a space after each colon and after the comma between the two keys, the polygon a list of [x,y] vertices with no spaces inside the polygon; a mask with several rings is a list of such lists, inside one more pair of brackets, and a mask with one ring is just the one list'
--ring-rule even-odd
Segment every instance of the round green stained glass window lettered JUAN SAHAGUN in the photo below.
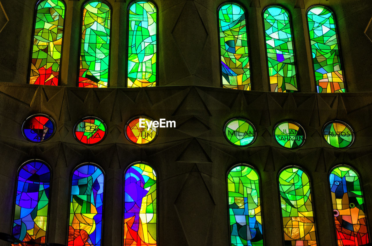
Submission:
{"label": "round green stained glass window lettered JUAN SAHAGUN", "polygon": [[287,149],[296,149],[305,142],[305,130],[294,121],[283,121],[274,127],[273,136],[279,145]]}

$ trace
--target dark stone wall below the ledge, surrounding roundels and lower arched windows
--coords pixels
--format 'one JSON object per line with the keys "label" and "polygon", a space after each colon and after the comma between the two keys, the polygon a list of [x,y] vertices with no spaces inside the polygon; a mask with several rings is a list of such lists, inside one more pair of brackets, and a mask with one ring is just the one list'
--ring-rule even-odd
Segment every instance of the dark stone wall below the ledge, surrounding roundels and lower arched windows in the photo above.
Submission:
{"label": "dark stone wall below the ledge, surrounding roundels and lower arched windows", "polygon": [[[120,245],[123,174],[131,163],[145,161],[157,171],[160,245],[228,245],[226,175],[231,166],[246,163],[261,177],[265,242],[279,246],[277,177],[285,166],[297,165],[311,179],[319,245],[336,245],[328,188],[331,168],[347,164],[359,172],[367,213],[372,210],[368,195],[372,192],[371,96],[200,86],[87,89],[1,83],[0,231],[10,232],[12,227],[17,169],[37,158],[52,167],[48,241],[65,243],[71,172],[78,164],[94,162],[106,174],[103,243]],[[48,114],[56,122],[55,135],[45,142],[32,143],[22,136],[23,121],[35,113]],[[124,126],[142,114],[175,120],[176,128],[161,128],[153,143],[134,145],[126,139]],[[101,143],[87,146],[74,139],[73,127],[85,116],[99,117],[107,124],[108,134]],[[252,145],[239,148],[226,141],[223,127],[233,117],[254,124],[257,139]],[[304,127],[307,137],[302,147],[285,149],[273,139],[273,127],[285,119]],[[322,127],[333,119],[353,127],[355,142],[349,148],[336,149],[323,140]],[[371,217],[368,222],[372,224]]]}

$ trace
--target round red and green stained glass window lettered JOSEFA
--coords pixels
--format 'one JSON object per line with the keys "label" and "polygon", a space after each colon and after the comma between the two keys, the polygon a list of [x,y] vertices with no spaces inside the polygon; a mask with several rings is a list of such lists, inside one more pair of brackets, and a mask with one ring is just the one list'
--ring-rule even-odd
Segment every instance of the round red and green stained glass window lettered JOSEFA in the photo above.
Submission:
{"label": "round red and green stained glass window lettered JOSEFA", "polygon": [[101,142],[107,133],[103,120],[89,116],[79,120],[74,127],[74,136],[80,143],[92,145]]}

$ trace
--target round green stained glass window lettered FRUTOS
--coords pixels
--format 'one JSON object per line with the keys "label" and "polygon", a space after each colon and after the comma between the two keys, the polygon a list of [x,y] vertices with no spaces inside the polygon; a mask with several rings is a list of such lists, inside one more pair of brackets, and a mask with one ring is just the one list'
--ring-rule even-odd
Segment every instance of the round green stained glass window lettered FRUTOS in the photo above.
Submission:
{"label": "round green stained glass window lettered FRUTOS", "polygon": [[322,132],[325,142],[334,148],[347,148],[354,142],[352,128],[340,120],[332,120],[326,123]]}

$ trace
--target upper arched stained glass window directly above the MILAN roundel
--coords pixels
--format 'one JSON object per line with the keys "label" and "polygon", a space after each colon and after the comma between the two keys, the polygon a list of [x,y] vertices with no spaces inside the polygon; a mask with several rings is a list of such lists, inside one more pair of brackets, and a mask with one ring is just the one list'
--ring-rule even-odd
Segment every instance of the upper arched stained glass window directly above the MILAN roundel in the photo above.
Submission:
{"label": "upper arched stained glass window directly above the MILAN roundel", "polygon": [[225,3],[218,10],[222,87],[251,90],[248,37],[244,9]]}

